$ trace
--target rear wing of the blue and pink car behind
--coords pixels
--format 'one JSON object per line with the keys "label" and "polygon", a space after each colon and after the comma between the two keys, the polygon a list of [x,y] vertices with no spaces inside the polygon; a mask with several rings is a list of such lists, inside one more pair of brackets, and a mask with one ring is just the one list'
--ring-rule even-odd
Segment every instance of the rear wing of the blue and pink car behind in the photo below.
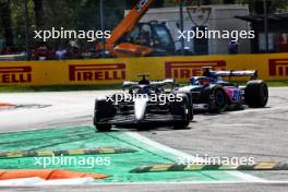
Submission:
{"label": "rear wing of the blue and pink car behind", "polygon": [[251,76],[251,80],[256,80],[259,77],[259,73],[256,70],[244,70],[244,71],[213,71],[213,73],[217,76]]}

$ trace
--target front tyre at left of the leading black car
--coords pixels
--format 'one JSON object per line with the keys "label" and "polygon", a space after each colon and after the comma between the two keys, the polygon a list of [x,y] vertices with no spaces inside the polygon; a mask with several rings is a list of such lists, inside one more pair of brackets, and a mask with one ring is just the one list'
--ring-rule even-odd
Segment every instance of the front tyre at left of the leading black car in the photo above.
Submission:
{"label": "front tyre at left of the leading black car", "polygon": [[[94,109],[94,125],[97,131],[106,132],[111,130],[111,124],[100,122],[105,118],[115,116],[115,107],[105,99],[96,99]],[[100,123],[99,123],[100,122]]]}

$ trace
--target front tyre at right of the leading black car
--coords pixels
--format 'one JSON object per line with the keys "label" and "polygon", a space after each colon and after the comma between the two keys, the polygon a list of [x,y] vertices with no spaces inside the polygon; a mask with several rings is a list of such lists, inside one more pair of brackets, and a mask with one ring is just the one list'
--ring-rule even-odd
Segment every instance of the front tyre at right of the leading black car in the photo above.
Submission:
{"label": "front tyre at right of the leading black car", "polygon": [[[182,95],[182,94],[181,94]],[[177,120],[173,123],[175,129],[184,129],[189,125],[190,122],[190,106],[189,106],[189,99],[187,98],[187,95],[182,95],[182,101],[175,101],[171,105],[172,115],[179,116],[182,118],[182,120]]]}

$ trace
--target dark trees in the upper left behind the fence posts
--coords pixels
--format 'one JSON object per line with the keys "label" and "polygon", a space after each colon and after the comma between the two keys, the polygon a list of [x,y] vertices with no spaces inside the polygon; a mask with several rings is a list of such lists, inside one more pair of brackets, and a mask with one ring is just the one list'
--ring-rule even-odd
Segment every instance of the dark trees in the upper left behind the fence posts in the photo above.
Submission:
{"label": "dark trees in the upper left behind the fence posts", "polygon": [[[3,20],[11,19],[14,45],[22,49],[25,39],[25,17],[23,0],[1,0],[9,4],[9,10],[2,10]],[[65,29],[100,29],[99,0],[27,0],[28,2],[28,32],[31,46],[37,46],[32,37],[35,29],[51,29],[64,27]],[[105,1],[105,29],[112,29],[123,17],[124,0]],[[1,20],[0,20],[1,21]],[[7,26],[5,26],[7,27]],[[5,38],[7,31],[0,22],[0,39]],[[4,31],[5,29],[5,31]]]}

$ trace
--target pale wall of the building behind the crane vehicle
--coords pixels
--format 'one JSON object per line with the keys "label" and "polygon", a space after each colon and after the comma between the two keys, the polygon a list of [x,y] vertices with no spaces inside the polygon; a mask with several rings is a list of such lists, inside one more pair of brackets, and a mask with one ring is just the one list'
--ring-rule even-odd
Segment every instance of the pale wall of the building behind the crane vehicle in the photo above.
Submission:
{"label": "pale wall of the building behind the crane vehicle", "polygon": [[[235,19],[236,15],[248,15],[248,5],[240,4],[229,4],[229,5],[209,5],[212,9],[209,19],[205,24],[208,29],[218,31],[250,31],[250,25],[245,21]],[[184,10],[184,29],[191,29],[194,24],[191,21],[189,14],[187,13],[187,8]],[[200,25],[203,24],[207,14],[204,13],[193,13],[194,21]],[[202,17],[201,17],[202,16]],[[141,22],[148,21],[163,21],[167,22],[167,25],[171,32],[171,35],[177,39],[177,27],[176,23],[179,22],[179,8],[159,8],[151,9],[142,17]],[[208,52],[211,55],[215,53],[228,53],[227,45],[230,39],[209,39],[208,40]],[[185,46],[189,46],[193,50],[193,44],[185,41]],[[239,39],[239,52],[249,53],[250,52],[250,40]]]}

